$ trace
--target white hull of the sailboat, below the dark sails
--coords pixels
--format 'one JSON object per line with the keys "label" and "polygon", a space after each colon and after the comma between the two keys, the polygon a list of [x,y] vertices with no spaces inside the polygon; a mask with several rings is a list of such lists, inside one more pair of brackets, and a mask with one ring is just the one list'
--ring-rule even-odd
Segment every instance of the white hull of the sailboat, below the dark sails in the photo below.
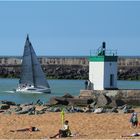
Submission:
{"label": "white hull of the sailboat, below the dark sails", "polygon": [[51,89],[50,88],[36,88],[36,87],[25,87],[25,88],[18,87],[16,89],[16,92],[20,92],[20,93],[51,93]]}

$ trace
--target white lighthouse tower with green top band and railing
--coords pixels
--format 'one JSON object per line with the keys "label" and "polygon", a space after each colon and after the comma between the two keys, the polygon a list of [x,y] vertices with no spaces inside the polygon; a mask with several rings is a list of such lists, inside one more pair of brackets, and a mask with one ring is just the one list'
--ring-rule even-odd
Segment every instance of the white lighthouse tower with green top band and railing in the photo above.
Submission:
{"label": "white lighthouse tower with green top band and railing", "polygon": [[89,58],[89,81],[93,90],[117,89],[117,54],[107,51],[105,42]]}

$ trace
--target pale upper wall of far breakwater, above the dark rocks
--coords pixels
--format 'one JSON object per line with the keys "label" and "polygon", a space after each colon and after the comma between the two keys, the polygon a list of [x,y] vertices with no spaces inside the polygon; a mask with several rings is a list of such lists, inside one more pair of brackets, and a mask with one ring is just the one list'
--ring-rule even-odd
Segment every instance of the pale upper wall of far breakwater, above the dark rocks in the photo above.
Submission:
{"label": "pale upper wall of far breakwater, above the dark rocks", "polygon": [[[42,65],[84,65],[88,66],[88,56],[40,56],[38,57]],[[0,65],[21,65],[20,56],[0,56]],[[140,56],[119,56],[118,66],[120,67],[140,67]]]}

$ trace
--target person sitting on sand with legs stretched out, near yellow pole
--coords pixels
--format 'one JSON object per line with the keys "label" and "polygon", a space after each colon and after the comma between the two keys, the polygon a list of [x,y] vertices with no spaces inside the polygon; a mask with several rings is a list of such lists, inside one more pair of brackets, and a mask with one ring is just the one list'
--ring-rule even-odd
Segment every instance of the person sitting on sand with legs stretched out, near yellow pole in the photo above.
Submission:
{"label": "person sitting on sand with legs stretched out, near yellow pole", "polygon": [[68,123],[69,123],[68,120],[66,120],[64,122],[63,128],[59,129],[59,132],[56,135],[54,135],[54,136],[52,136],[50,138],[57,138],[57,137],[61,138],[61,137],[68,137],[68,136],[70,136],[71,135],[71,131],[69,129]]}

